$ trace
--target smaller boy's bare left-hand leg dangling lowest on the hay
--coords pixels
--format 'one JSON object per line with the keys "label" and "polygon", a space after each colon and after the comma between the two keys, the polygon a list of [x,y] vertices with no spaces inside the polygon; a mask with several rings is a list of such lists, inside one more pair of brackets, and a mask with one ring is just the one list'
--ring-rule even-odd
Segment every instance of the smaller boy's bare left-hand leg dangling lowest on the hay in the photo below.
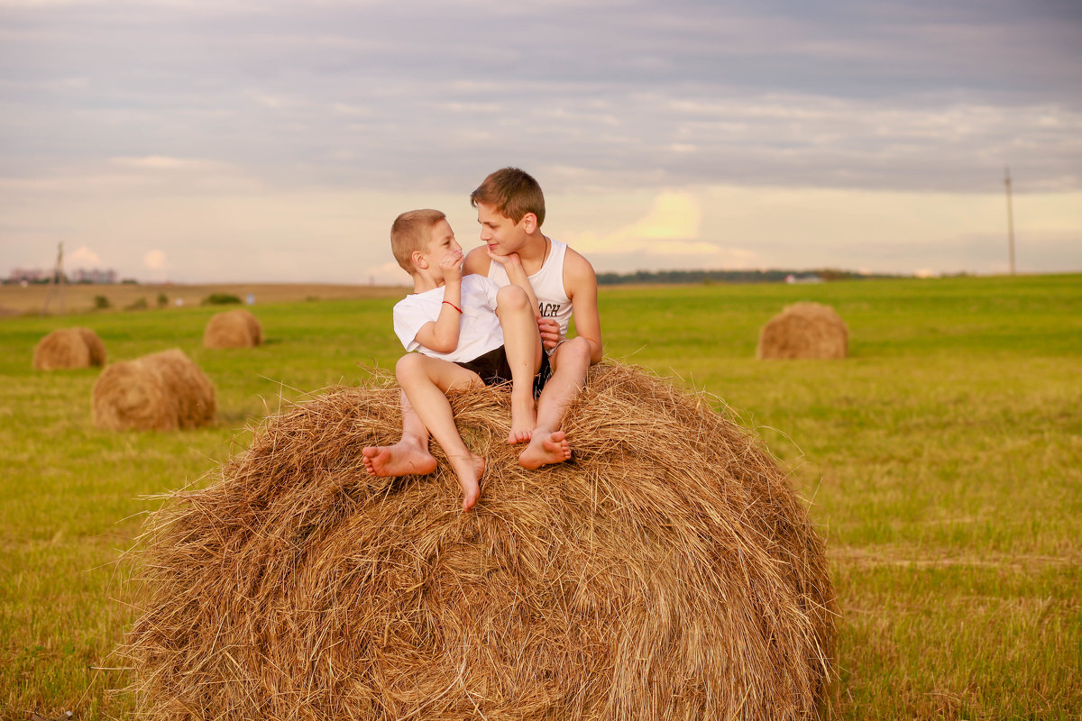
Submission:
{"label": "smaller boy's bare left-hand leg dangling lowest on the hay", "polygon": [[462,442],[447,391],[479,386],[480,378],[460,365],[421,353],[403,356],[395,366],[395,374],[418,417],[447,454],[462,486],[462,510],[470,510],[480,496],[485,459],[471,453]]}

